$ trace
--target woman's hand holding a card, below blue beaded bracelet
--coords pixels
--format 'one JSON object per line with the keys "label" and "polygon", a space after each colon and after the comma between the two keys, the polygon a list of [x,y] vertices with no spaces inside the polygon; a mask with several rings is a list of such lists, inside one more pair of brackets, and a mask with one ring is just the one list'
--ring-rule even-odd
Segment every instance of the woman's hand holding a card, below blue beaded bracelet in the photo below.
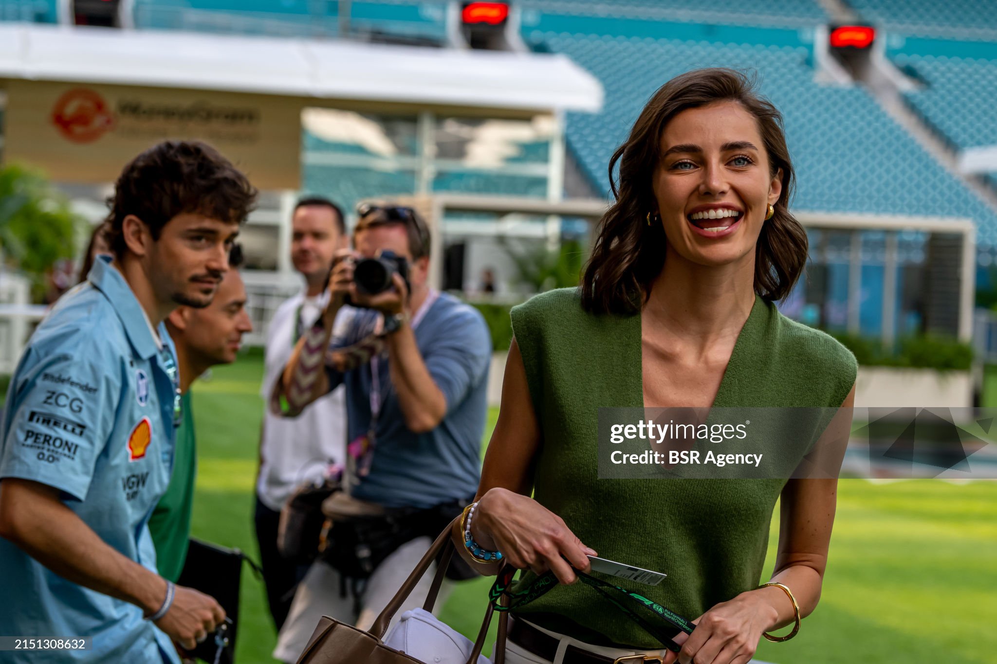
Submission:
{"label": "woman's hand holding a card, below blue beaded bracelet", "polygon": [[482,547],[500,551],[513,567],[537,574],[550,569],[561,583],[573,583],[577,577],[571,567],[588,571],[586,555],[596,555],[560,517],[507,489],[491,489],[479,500],[471,535]]}

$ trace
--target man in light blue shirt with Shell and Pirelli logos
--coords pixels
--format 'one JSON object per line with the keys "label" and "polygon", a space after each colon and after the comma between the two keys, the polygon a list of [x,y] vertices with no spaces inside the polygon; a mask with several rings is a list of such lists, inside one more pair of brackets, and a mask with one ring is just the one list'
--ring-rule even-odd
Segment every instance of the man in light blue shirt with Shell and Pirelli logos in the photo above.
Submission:
{"label": "man in light blue shirt with Shell and Pirelli logos", "polygon": [[156,572],[147,523],[180,416],[163,321],[210,304],[255,194],[203,143],[140,154],[115,187],[115,258],[56,304],[18,364],[0,430],[0,635],[91,639],[47,661],[177,662],[170,639],[192,648],[224,618]]}

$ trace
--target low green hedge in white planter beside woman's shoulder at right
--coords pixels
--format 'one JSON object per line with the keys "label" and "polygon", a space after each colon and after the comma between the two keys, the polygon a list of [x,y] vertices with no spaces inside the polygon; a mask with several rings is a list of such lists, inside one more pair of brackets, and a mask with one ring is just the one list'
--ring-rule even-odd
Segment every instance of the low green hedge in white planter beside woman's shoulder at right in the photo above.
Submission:
{"label": "low green hedge in white planter beside woman's shoulder at right", "polygon": [[828,332],[866,366],[910,366],[940,371],[966,370],[973,361],[970,344],[950,336],[917,334],[898,339],[893,349],[877,338],[844,332]]}

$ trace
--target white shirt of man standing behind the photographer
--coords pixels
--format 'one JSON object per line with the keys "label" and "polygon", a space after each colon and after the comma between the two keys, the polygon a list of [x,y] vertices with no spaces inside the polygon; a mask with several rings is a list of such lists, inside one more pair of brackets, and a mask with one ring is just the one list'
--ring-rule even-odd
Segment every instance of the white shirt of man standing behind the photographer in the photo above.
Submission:
{"label": "white shirt of man standing behind the photographer", "polygon": [[[343,464],[346,459],[346,396],[342,385],[309,404],[297,417],[280,417],[267,407],[273,381],[280,377],[291,357],[296,341],[295,319],[300,318],[298,330],[311,328],[327,296],[294,296],[277,309],[266,332],[260,439],[263,463],[256,495],[271,510],[279,511],[302,482],[322,478],[330,463]],[[351,318],[349,308],[344,307],[336,316],[333,332],[340,333]]]}

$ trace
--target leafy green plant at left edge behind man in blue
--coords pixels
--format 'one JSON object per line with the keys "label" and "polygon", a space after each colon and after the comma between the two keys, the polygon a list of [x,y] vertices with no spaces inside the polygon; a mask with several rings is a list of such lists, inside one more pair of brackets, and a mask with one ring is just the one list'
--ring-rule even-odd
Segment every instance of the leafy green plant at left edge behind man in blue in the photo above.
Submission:
{"label": "leafy green plant at left edge behind man in blue", "polygon": [[31,279],[36,298],[52,266],[76,254],[81,222],[41,173],[19,164],[0,168],[0,246],[5,262]]}

